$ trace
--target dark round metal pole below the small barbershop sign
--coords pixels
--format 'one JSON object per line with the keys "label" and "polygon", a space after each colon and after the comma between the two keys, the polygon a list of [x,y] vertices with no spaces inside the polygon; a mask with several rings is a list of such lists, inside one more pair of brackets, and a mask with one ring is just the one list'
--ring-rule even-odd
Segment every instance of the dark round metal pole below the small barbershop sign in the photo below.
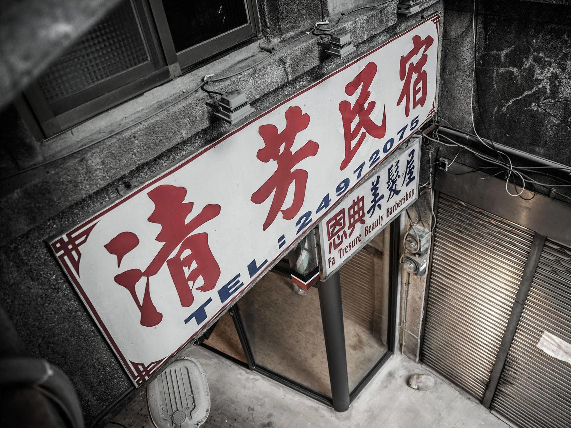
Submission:
{"label": "dark round metal pole below the small barbershop sign", "polygon": [[345,411],[349,409],[350,400],[339,271],[325,282],[319,282],[317,288],[319,289],[319,305],[321,306],[321,322],[325,337],[333,409]]}

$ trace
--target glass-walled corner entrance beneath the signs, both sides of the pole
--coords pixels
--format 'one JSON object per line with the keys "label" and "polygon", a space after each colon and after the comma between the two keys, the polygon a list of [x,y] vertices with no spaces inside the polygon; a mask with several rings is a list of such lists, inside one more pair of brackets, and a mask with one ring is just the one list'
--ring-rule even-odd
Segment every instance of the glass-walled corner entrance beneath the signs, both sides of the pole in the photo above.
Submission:
{"label": "glass-walled corner entrance beneath the signs, both sides of the pole", "polygon": [[[398,245],[399,228],[391,225],[338,273],[350,401],[394,350]],[[339,345],[326,343],[319,289],[333,285],[305,293],[291,273],[282,260],[202,336],[202,346],[333,406],[328,355]]]}

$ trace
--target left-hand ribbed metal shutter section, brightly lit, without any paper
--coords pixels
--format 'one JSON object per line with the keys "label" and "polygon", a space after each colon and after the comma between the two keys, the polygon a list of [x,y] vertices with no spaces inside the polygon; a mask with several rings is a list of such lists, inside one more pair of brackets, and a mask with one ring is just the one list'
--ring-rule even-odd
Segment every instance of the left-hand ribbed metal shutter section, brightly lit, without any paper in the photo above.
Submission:
{"label": "left-hand ribbed metal shutter section, brightly lit, without any paper", "polygon": [[422,359],[482,399],[533,232],[440,193]]}

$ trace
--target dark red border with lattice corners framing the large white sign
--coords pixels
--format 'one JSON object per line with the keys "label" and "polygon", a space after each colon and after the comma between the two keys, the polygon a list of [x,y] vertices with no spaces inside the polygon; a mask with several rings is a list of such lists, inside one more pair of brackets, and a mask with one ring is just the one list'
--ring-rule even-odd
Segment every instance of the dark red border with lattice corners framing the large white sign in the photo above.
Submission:
{"label": "dark red border with lattice corners framing the large white sign", "polygon": [[[93,304],[91,304],[91,301],[89,300],[89,298],[87,298],[87,294],[85,293],[85,290],[83,290],[81,284],[79,284],[78,281],[78,277],[79,277],[79,259],[81,258],[81,252],[79,251],[79,247],[81,246],[81,244],[85,243],[85,240],[87,239],[87,236],[89,236],[89,233],[91,232],[91,229],[93,229],[93,227],[95,227],[95,223],[94,221],[98,220],[101,216],[105,215],[106,213],[108,213],[109,211],[111,211],[112,209],[115,209],[116,207],[118,207],[119,205],[125,203],[126,201],[130,200],[132,197],[134,197],[135,195],[138,195],[138,193],[146,190],[148,187],[154,185],[155,183],[158,183],[158,181],[164,179],[165,177],[171,175],[172,173],[178,171],[180,168],[186,166],[188,163],[190,163],[191,161],[193,161],[194,159],[198,158],[199,156],[203,155],[204,153],[206,153],[208,150],[211,150],[212,148],[218,146],[218,144],[222,143],[224,140],[226,140],[227,138],[230,138],[230,136],[236,134],[236,132],[241,131],[243,128],[249,126],[251,123],[256,122],[256,120],[259,120],[260,118],[263,118],[264,116],[266,116],[267,114],[270,114],[272,111],[276,110],[276,108],[279,108],[280,106],[283,106],[283,104],[291,101],[292,99],[295,99],[297,96],[304,94],[305,92],[307,92],[308,90],[310,90],[311,88],[321,84],[322,82],[324,82],[325,80],[331,78],[332,76],[335,76],[337,73],[345,70],[345,68],[348,68],[350,66],[352,66],[353,64],[359,62],[361,59],[366,58],[367,56],[375,53],[377,50],[381,49],[382,47],[388,45],[388,43],[391,43],[393,41],[395,41],[396,39],[399,39],[401,37],[403,37],[405,34],[408,34],[410,31],[416,29],[416,27],[419,27],[420,25],[423,25],[424,23],[428,22],[428,21],[432,21],[435,23],[436,25],[436,31],[437,34],[440,35],[440,17],[441,17],[441,12],[437,12],[436,14],[432,15],[431,17],[425,19],[424,21],[421,21],[419,23],[417,23],[417,25],[411,27],[410,29],[404,31],[404,33],[401,33],[399,35],[396,35],[395,37],[389,39],[387,42],[383,43],[382,45],[376,47],[375,49],[369,51],[368,53],[361,55],[359,58],[353,60],[352,62],[346,64],[345,66],[339,68],[339,70],[333,71],[331,74],[325,76],[324,78],[318,80],[316,83],[313,83],[311,86],[308,86],[307,88],[304,88],[303,90],[297,92],[295,95],[290,96],[289,98],[287,98],[286,100],[280,102],[279,104],[276,104],[276,106],[270,108],[270,110],[267,110],[266,112],[260,114],[259,116],[256,116],[256,118],[250,120],[249,122],[243,124],[242,126],[240,126],[239,128],[237,128],[234,131],[229,132],[228,134],[224,135],[222,138],[220,138],[218,141],[211,143],[209,146],[204,147],[202,150],[196,152],[196,154],[192,155],[190,158],[183,160],[181,163],[179,163],[178,165],[175,165],[174,167],[172,167],[171,169],[169,169],[166,172],[163,172],[161,175],[159,175],[158,177],[156,177],[155,179],[149,181],[148,183],[142,185],[141,187],[135,189],[134,191],[132,191],[131,193],[129,193],[127,196],[123,197],[122,199],[116,201],[114,204],[111,204],[109,207],[104,208],[102,211],[96,213],[93,217],[91,217],[89,220],[84,221],[83,223],[79,224],[77,227],[73,228],[71,231],[67,232],[64,234],[64,237],[59,237],[57,240],[54,240],[50,243],[50,247],[53,250],[55,256],[58,258],[58,260],[60,261],[63,269],[65,270],[67,276],[70,278],[70,280],[73,282],[73,284],[75,285],[75,288],[78,290],[79,296],[81,297],[82,301],[84,302],[84,304],[87,306],[87,309],[89,310],[89,312],[91,313],[91,316],[93,316],[93,318],[95,319],[96,323],[98,324],[99,329],[101,330],[101,332],[103,333],[103,336],[106,337],[108,343],[110,344],[111,348],[114,350],[116,356],[119,358],[119,360],[123,363],[124,368],[126,368],[127,372],[129,373],[131,380],[135,383],[135,386],[140,386],[142,385],[142,383],[148,379],[152,373],[154,373],[160,366],[162,366],[162,364],[164,364],[164,362],[170,360],[171,357],[175,356],[176,353],[178,353],[182,348],[184,348],[184,346],[186,346],[188,344],[188,342],[190,342],[195,336],[198,335],[198,333],[200,333],[202,331],[202,329],[199,329],[195,334],[193,334],[190,338],[188,338],[188,340],[186,342],[184,342],[184,344],[182,346],[180,346],[174,353],[172,353],[170,356],[168,357],[164,357],[162,360],[158,360],[158,361],[154,361],[151,362],[150,364],[148,364],[147,366],[145,366],[144,364],[140,364],[140,363],[136,363],[136,362],[131,362],[131,361],[127,361],[126,358],[123,356],[123,354],[120,352],[118,345],[116,344],[116,342],[113,340],[113,338],[111,337],[111,334],[109,333],[107,327],[103,324],[103,321],[101,320],[99,314],[97,313],[97,311],[95,310]],[[440,46],[440,40],[439,43],[437,43],[436,45],[436,55],[438,58],[439,55],[439,46]],[[421,123],[419,125],[419,127],[417,127],[416,129],[419,129],[421,126],[423,126],[430,118],[431,116],[434,114],[434,112],[436,112],[436,96],[438,93],[438,63],[436,64],[436,88],[435,88],[435,99],[434,102],[432,104],[432,109],[429,113],[429,115],[427,116],[427,118],[424,120],[423,123]],[[406,138],[403,138],[403,140],[401,140],[402,144],[405,140],[407,140],[408,138],[410,138],[410,136],[412,134],[414,134],[413,131],[411,132],[411,134],[407,135]],[[391,153],[393,151],[395,151],[398,147],[400,147],[400,144],[397,144],[395,147],[392,148],[392,150],[390,152],[387,153],[387,156],[391,155]],[[373,167],[371,168],[371,170],[375,169],[384,159],[387,158],[387,156],[385,156],[383,159],[379,160],[379,162],[377,162],[375,165],[373,165]],[[357,181],[351,188],[347,189],[347,192],[351,192],[357,185],[359,185],[361,183],[361,181],[363,181],[363,179],[365,178],[365,176],[363,176],[361,178],[361,180]],[[313,227],[315,227],[315,225],[317,223],[319,223],[319,221],[329,212],[331,211],[331,209],[334,207],[335,205],[333,205],[331,208],[324,210],[323,214],[315,221],[313,221],[313,223],[311,225],[309,225],[307,228],[304,229],[303,232],[298,234],[298,237],[302,237],[304,236],[305,233],[307,233],[309,230],[311,230]],[[85,239],[83,240],[79,240],[80,237],[85,235]],[[64,239],[65,238],[65,239]],[[297,240],[297,239],[296,239]],[[296,241],[293,241],[296,242]],[[67,246],[66,246],[67,245]],[[71,247],[70,247],[71,245]],[[272,260],[271,263],[268,264],[268,266],[274,264],[274,262],[278,259],[280,259],[281,257],[283,257],[283,255],[289,251],[289,249],[292,247],[292,245],[290,245],[289,247],[286,247],[281,253],[279,253],[279,255]],[[67,249],[66,249],[67,248]],[[69,255],[72,255],[72,258],[70,259]],[[67,258],[67,260],[66,260]],[[75,261],[75,262],[74,262]],[[75,266],[75,263],[77,263],[77,267]],[[256,282],[258,280],[258,278],[260,276],[262,276],[262,274],[266,273],[267,269],[262,269],[260,270],[260,273],[258,274],[258,276],[256,276],[255,278],[253,278],[248,285],[244,288],[248,288],[248,286],[250,286],[252,283]],[[220,312],[222,312],[224,309],[227,308],[228,305],[230,305],[234,300],[236,300],[237,297],[241,296],[242,292],[236,294],[236,296],[234,296],[233,298],[229,299],[229,301],[222,306],[222,308],[220,308],[218,310],[218,312],[216,312],[214,314],[214,316],[208,318],[208,321],[204,324],[205,326],[208,325],[208,323],[216,318],[216,316],[218,316],[218,314]]]}

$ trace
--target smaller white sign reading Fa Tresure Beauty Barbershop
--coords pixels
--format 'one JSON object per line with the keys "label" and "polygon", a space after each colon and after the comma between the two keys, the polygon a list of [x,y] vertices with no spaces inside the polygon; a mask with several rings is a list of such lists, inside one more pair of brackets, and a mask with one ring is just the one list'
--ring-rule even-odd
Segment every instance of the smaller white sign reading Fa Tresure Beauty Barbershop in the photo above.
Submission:
{"label": "smaller white sign reading Fa Tresure Beauty Barbershop", "polygon": [[326,280],[411,205],[419,193],[420,139],[396,150],[319,223]]}

